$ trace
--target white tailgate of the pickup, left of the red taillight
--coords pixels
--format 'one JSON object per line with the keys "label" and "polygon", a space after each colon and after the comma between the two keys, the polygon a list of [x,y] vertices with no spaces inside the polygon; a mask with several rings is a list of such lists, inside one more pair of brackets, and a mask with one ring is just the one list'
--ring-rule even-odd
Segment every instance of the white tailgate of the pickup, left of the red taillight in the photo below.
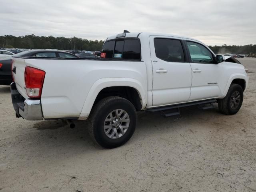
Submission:
{"label": "white tailgate of the pickup, left of the red taillight", "polygon": [[14,82],[16,83],[16,88],[18,92],[24,97],[28,98],[25,88],[25,72],[26,64],[25,59],[23,58],[12,58],[12,76],[14,78]]}

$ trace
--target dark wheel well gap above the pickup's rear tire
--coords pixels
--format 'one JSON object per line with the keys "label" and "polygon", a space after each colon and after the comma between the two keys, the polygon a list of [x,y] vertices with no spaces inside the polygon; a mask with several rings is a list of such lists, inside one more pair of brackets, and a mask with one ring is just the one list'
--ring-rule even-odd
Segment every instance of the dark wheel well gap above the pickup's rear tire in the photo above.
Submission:
{"label": "dark wheel well gap above the pickup's rear tire", "polygon": [[93,105],[108,96],[119,96],[125,98],[134,105],[136,110],[141,110],[142,108],[142,104],[140,102],[141,98],[138,91],[133,87],[126,86],[107,87],[102,89],[97,95]]}

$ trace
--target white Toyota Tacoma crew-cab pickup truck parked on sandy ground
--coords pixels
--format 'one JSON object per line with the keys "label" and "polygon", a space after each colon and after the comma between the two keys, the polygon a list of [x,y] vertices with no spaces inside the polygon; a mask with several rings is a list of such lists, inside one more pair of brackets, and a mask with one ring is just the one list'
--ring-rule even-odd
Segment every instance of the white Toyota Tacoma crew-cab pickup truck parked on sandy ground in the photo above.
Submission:
{"label": "white Toyota Tacoma crew-cab pickup truck parked on sandy ground", "polygon": [[12,75],[16,117],[88,118],[90,136],[105,148],[131,138],[136,111],[171,116],[180,107],[218,102],[220,112],[236,114],[248,85],[242,64],[198,40],[126,31],[105,40],[101,58],[13,56]]}

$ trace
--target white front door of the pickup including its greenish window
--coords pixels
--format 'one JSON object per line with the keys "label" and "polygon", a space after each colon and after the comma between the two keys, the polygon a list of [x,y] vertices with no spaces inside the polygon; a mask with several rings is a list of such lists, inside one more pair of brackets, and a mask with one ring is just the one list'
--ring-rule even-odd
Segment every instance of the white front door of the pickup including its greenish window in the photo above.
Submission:
{"label": "white front door of the pickup including its greenish window", "polygon": [[222,65],[216,64],[215,55],[203,44],[186,41],[192,68],[190,101],[221,96],[220,75]]}

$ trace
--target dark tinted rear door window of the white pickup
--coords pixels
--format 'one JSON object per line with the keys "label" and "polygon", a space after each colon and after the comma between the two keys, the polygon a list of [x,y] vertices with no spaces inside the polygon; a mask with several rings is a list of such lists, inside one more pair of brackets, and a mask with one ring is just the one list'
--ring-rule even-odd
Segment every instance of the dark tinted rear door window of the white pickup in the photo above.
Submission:
{"label": "dark tinted rear door window of the white pickup", "polygon": [[167,62],[185,62],[180,40],[154,38],[156,57]]}

